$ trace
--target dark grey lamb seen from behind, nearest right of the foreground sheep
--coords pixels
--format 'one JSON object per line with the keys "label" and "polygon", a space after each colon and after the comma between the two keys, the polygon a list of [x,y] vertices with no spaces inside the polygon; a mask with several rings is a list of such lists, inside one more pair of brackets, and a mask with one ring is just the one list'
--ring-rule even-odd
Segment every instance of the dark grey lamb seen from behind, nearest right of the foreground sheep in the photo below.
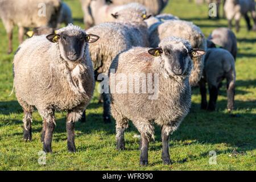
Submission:
{"label": "dark grey lamb seen from behind, nearest right of the foreground sheep", "polygon": [[[201,93],[201,109],[213,111],[216,109],[218,97],[218,87],[222,80],[226,78],[228,94],[228,111],[234,109],[234,94],[236,82],[235,60],[231,53],[222,48],[208,48],[205,55],[204,76],[199,82]],[[210,100],[207,105],[208,84]]]}

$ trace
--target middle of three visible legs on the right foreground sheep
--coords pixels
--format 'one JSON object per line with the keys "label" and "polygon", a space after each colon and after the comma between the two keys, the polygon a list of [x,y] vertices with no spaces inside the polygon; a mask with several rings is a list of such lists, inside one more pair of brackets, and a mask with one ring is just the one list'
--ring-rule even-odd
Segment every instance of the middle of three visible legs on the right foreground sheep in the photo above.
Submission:
{"label": "middle of three visible legs on the right foreground sheep", "polygon": [[139,164],[147,165],[148,164],[148,144],[149,139],[144,133],[141,133],[142,145],[141,145],[141,156],[139,158]]}

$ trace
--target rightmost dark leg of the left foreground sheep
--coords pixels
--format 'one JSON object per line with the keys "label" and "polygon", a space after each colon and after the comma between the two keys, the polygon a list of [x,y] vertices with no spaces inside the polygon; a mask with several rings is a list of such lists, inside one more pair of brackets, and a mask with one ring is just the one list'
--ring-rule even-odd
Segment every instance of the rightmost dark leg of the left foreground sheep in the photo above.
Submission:
{"label": "rightmost dark leg of the left foreground sheep", "polygon": [[66,129],[68,135],[68,151],[76,152],[75,146],[75,122],[79,121],[82,111],[68,111]]}

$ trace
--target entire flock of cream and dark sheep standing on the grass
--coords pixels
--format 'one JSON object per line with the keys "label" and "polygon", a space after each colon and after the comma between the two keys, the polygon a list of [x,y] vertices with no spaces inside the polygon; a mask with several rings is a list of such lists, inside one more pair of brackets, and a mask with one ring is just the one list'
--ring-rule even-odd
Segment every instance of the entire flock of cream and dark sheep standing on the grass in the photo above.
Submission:
{"label": "entire flock of cream and dark sheep standing on the grass", "polygon": [[[162,127],[163,163],[171,164],[169,136],[189,112],[192,86],[200,88],[201,109],[215,110],[218,89],[226,79],[227,107],[229,111],[234,108],[237,42],[229,28],[217,28],[207,39],[192,22],[159,14],[167,0],[81,0],[84,21],[90,26],[85,31],[68,24],[72,23],[71,10],[59,0],[14,1],[0,0],[0,16],[9,36],[9,53],[14,24],[19,27],[21,44],[15,52],[13,72],[16,97],[24,110],[23,138],[32,139],[36,107],[43,118],[46,152],[52,152],[55,111],[67,111],[68,151],[76,151],[75,122],[85,120],[95,80],[102,74],[108,75],[109,86],[119,84],[112,82],[118,74],[158,75],[157,99],[149,99],[151,93],[112,92],[111,86],[110,93],[102,93],[100,98],[104,122],[110,122],[110,115],[115,119],[118,150],[125,149],[124,132],[129,121],[141,133],[142,165],[148,164],[153,123]],[[46,16],[37,15],[39,2],[46,5]],[[242,3],[236,6],[243,8]],[[62,22],[68,26],[56,28]],[[27,27],[34,28],[34,36],[22,43]],[[147,85],[154,86],[152,82]],[[143,88],[142,82],[139,88]]]}

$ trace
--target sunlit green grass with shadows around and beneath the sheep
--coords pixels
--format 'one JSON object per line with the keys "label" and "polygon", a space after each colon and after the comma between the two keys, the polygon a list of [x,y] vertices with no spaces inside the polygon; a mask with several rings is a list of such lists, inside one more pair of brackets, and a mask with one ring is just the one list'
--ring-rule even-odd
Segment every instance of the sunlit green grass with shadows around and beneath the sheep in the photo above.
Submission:
{"label": "sunlit green grass with shadows around and beneath the sheep", "polygon": [[[66,1],[72,8],[75,24],[84,27],[79,1]],[[191,20],[201,27],[205,36],[216,27],[227,26],[225,19],[208,20],[207,5],[196,6],[187,0],[171,0],[164,10],[181,19]],[[57,113],[57,127],[53,134],[53,154],[47,154],[46,165],[38,164],[42,150],[40,130],[42,118],[35,112],[32,123],[32,142],[22,139],[22,108],[13,88],[13,54],[7,55],[7,37],[0,22],[0,169],[1,170],[255,170],[256,169],[256,32],[247,32],[242,20],[238,38],[236,61],[236,110],[240,117],[230,117],[226,110],[226,93],[221,89],[217,111],[200,110],[200,94],[193,90],[192,109],[170,139],[173,164],[163,166],[161,160],[160,129],[156,127],[155,142],[150,143],[149,165],[139,166],[138,131],[134,126],[126,131],[126,150],[115,150],[114,122],[102,122],[102,106],[97,104],[98,93],[89,105],[87,122],[76,124],[77,152],[67,152],[65,117]],[[17,28],[14,49],[18,47]],[[233,150],[239,154],[232,154]],[[209,165],[209,151],[217,152],[217,164]]]}

